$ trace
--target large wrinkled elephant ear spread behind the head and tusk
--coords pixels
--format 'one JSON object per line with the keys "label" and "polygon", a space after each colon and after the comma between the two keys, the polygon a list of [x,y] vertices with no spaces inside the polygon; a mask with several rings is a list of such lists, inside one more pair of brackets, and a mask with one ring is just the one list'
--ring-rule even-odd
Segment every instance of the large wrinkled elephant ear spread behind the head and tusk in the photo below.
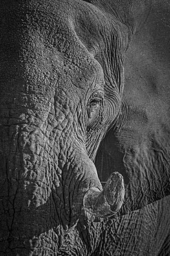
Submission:
{"label": "large wrinkled elephant ear spread behind the head and tusk", "polygon": [[122,214],[170,194],[170,28],[162,17],[168,10],[152,12],[129,44],[120,116],[96,155],[101,181],[111,172],[124,176]]}

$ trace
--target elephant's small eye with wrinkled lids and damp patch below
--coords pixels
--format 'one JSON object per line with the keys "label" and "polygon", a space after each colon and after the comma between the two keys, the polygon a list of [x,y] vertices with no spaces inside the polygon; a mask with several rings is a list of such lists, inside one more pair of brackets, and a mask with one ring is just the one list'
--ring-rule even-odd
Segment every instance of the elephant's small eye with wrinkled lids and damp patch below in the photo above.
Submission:
{"label": "elephant's small eye with wrinkled lids and damp patch below", "polygon": [[89,101],[87,105],[87,128],[94,129],[100,120],[103,99],[96,97]]}

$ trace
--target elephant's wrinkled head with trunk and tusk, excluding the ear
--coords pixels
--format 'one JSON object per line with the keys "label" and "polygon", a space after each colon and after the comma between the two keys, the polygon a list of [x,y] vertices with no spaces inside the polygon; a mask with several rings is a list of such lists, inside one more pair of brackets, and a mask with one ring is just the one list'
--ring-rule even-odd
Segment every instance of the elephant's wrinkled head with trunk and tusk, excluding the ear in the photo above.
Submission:
{"label": "elephant's wrinkled head with trunk and tusk, excluding the ear", "polygon": [[103,188],[94,160],[122,120],[131,31],[102,1],[8,0],[0,11],[1,251],[56,255],[80,214],[110,217],[123,203],[119,170]]}

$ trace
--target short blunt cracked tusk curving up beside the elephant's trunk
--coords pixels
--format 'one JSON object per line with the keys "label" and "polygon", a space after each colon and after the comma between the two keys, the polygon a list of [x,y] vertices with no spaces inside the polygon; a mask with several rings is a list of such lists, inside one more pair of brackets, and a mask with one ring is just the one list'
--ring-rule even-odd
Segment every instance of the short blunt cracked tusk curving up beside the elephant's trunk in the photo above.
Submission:
{"label": "short blunt cracked tusk curving up beside the elephant's trunk", "polygon": [[123,176],[114,172],[102,191],[89,188],[83,198],[83,209],[96,217],[111,217],[123,205],[125,185]]}

